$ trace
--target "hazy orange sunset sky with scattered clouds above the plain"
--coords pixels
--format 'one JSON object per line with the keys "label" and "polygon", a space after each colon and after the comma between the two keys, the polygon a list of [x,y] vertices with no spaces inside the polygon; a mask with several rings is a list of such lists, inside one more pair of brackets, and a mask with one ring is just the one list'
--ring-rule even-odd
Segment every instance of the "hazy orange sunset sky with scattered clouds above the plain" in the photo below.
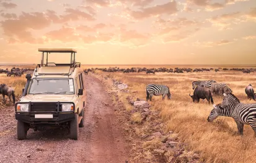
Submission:
{"label": "hazy orange sunset sky with scattered clouds above the plain", "polygon": [[39,64],[38,48],[82,64],[256,64],[256,0],[0,0],[0,63]]}

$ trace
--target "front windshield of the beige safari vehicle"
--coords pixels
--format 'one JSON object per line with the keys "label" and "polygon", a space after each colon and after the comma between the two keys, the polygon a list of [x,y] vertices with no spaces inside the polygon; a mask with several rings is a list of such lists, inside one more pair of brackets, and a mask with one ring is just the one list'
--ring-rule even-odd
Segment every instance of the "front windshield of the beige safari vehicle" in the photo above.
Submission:
{"label": "front windshield of the beige safari vehicle", "polygon": [[29,94],[74,94],[72,78],[33,78]]}

